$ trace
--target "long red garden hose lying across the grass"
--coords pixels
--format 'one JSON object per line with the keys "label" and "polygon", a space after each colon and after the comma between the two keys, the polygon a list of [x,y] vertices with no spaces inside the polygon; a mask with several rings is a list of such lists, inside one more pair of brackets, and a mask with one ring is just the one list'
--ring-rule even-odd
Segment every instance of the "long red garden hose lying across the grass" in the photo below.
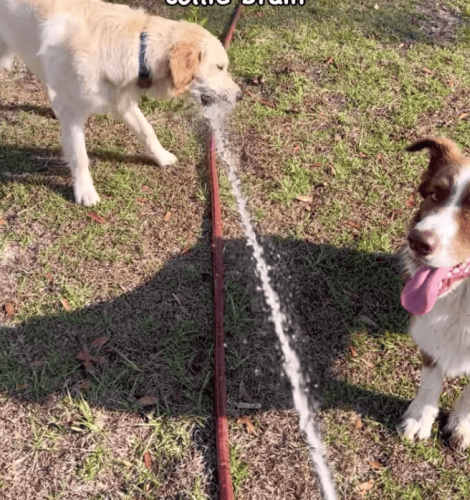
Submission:
{"label": "long red garden hose lying across the grass", "polygon": [[[240,3],[225,37],[227,49],[233,32],[240,20],[243,5]],[[211,181],[212,202],[212,260],[214,267],[214,329],[215,329],[215,418],[217,472],[219,477],[219,500],[233,500],[232,474],[230,472],[230,450],[227,422],[227,387],[225,384],[225,349],[224,349],[224,260],[222,214],[220,210],[219,182],[214,138],[209,146],[209,174]]]}

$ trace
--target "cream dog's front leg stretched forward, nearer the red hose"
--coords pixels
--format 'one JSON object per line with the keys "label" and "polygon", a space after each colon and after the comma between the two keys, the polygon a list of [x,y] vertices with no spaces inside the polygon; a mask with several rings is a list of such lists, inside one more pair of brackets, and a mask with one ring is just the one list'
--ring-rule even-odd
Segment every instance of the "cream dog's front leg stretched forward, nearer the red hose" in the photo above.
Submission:
{"label": "cream dog's front leg stretched forward, nearer the red hose", "polygon": [[152,125],[147,121],[138,106],[131,106],[125,112],[118,114],[117,118],[136,135],[140,143],[161,167],[174,165],[178,161],[174,154],[167,151],[160,144]]}

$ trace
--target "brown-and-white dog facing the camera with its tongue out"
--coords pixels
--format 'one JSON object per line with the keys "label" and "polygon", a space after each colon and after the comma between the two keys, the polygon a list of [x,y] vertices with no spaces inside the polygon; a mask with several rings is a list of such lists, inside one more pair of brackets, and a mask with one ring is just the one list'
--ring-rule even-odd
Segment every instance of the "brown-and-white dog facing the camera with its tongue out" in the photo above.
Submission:
{"label": "brown-and-white dog facing the camera with its tongue out", "polygon": [[[402,256],[410,279],[401,303],[412,314],[409,331],[423,360],[418,394],[401,424],[409,439],[430,436],[444,376],[470,374],[470,158],[443,137],[407,150],[425,148],[430,162],[419,186],[423,201]],[[470,445],[470,386],[446,431],[453,444]]]}

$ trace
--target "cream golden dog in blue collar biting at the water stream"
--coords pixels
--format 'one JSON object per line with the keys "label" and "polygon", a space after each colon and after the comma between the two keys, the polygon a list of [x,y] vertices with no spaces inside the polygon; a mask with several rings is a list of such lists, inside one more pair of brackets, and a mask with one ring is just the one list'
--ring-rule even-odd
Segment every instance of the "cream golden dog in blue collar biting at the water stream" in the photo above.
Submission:
{"label": "cream golden dog in blue collar biting at the water stream", "polygon": [[100,0],[0,0],[0,70],[14,54],[46,85],[83,205],[99,201],[85,147],[90,115],[112,114],[165,166],[176,156],[138,107],[146,90],[159,100],[189,91],[203,105],[241,98],[227,53],[208,31]]}

